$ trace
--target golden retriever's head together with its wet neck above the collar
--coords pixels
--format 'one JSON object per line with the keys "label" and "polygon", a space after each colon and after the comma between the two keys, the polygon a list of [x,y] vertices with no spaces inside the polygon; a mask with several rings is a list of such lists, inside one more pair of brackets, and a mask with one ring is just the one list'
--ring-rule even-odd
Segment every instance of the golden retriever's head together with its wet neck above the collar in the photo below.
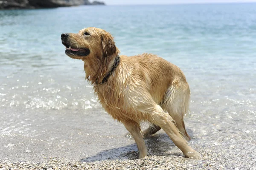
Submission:
{"label": "golden retriever's head together with its wet neck above the collar", "polygon": [[63,33],[61,41],[69,57],[84,61],[86,78],[92,83],[103,79],[119,54],[112,35],[100,28],[84,28],[78,34]]}

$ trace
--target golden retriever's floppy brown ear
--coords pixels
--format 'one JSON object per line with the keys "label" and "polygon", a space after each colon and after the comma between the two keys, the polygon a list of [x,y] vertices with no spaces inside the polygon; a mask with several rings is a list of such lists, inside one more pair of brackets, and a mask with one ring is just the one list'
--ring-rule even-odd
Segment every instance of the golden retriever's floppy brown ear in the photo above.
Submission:
{"label": "golden retriever's floppy brown ear", "polygon": [[114,38],[108,32],[102,33],[102,48],[104,57],[108,57],[116,53]]}

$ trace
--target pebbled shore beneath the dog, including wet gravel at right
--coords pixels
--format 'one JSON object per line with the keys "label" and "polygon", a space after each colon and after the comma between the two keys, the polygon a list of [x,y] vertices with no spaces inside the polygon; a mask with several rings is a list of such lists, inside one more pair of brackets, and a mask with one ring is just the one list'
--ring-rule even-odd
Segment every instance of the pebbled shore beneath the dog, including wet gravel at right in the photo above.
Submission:
{"label": "pebbled shore beneath the dog, including wet gravel at right", "polygon": [[[41,161],[2,159],[0,170],[256,170],[254,152],[256,130],[241,131],[237,134],[228,133],[230,130],[221,131],[217,130],[211,138],[201,135],[201,139],[193,137],[194,139],[189,142],[202,154],[202,159],[185,158],[172,142],[165,142],[168,141],[168,136],[160,132],[146,139],[150,155],[144,159],[137,159],[137,151],[126,151],[117,156],[106,154],[108,158],[104,156],[103,151],[95,156],[76,159],[58,157],[44,157]],[[224,136],[218,136],[219,132]],[[132,139],[126,138],[126,140]],[[204,140],[208,142],[203,144]],[[136,150],[136,146],[132,148]],[[26,154],[32,155],[30,150],[26,150]]]}

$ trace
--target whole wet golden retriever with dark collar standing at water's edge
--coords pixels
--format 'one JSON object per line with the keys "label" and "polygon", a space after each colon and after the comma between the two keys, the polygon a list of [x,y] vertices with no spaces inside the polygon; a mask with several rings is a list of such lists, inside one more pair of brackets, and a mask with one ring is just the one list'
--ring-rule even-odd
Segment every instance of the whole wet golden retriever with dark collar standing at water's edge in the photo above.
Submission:
{"label": "whole wet golden retriever with dark collar standing at water's edge", "polygon": [[[99,102],[131,133],[139,158],[148,154],[143,136],[161,128],[185,156],[201,158],[186,141],[190,137],[183,116],[189,108],[190,91],[180,68],[154,54],[119,56],[112,35],[100,28],[63,33],[61,41],[69,57],[84,61],[86,79]],[[150,123],[143,133],[140,122]]]}

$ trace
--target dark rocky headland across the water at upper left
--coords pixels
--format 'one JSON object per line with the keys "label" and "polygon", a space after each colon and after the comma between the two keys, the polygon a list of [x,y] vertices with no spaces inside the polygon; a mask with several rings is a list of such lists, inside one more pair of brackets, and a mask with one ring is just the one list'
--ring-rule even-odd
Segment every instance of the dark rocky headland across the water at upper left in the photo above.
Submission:
{"label": "dark rocky headland across the water at upper left", "polygon": [[105,5],[89,0],[0,0],[0,9],[56,8],[60,6]]}

